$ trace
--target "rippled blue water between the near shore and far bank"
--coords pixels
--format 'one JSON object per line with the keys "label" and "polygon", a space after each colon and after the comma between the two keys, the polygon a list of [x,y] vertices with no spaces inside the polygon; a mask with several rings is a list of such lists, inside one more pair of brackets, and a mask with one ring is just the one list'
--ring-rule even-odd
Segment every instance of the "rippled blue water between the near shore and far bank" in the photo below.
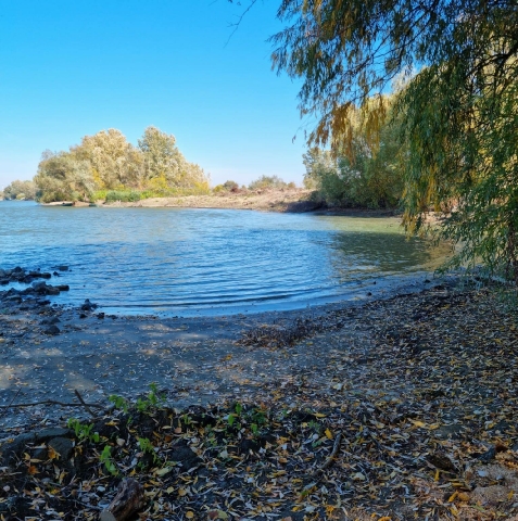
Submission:
{"label": "rippled blue water between the near shore and far bank", "polygon": [[[51,269],[106,312],[289,309],[365,295],[432,270],[445,249],[407,241],[394,218],[250,211],[74,208],[0,202],[0,267]],[[50,282],[56,283],[58,281]]]}

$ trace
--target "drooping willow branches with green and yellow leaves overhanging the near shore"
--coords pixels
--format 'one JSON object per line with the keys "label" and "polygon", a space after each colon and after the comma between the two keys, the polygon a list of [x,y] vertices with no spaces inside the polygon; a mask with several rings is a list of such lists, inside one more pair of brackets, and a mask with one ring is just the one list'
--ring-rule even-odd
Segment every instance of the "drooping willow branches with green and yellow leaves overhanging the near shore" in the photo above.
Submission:
{"label": "drooping willow branches with green and yellow leaves overhanging the near shore", "polygon": [[[253,2],[254,3],[254,2]],[[430,205],[453,265],[507,270],[518,283],[518,8],[511,0],[282,0],[278,72],[303,78],[312,144],[354,155],[355,112],[367,139],[387,118],[381,93],[396,76],[405,149],[405,223]]]}

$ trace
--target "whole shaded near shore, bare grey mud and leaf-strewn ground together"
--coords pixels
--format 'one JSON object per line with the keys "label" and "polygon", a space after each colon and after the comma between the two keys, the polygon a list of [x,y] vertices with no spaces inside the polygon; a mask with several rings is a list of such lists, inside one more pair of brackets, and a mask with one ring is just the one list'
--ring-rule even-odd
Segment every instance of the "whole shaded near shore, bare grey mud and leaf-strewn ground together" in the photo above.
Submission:
{"label": "whole shaded near shore, bare grey mud and leaf-strewn ground together", "polygon": [[[2,300],[0,404],[12,407],[0,412],[0,466],[25,480],[18,487],[24,494],[46,490],[45,480],[55,480],[55,469],[63,468],[63,490],[73,494],[54,493],[49,505],[55,511],[72,509],[66,519],[78,511],[96,514],[115,495],[121,476],[99,465],[102,446],[66,428],[49,431],[76,417],[85,424],[93,421],[99,432],[125,433],[117,443],[127,444],[129,459],[114,442],[103,443],[112,444],[114,458],[115,453],[123,458],[114,459],[116,465],[134,469],[152,493],[147,519],[205,519],[207,507],[216,512],[211,519],[227,519],[218,513],[228,516],[220,496],[207,495],[214,488],[247,498],[232,505],[242,519],[266,521],[268,512],[299,521],[349,514],[362,521],[414,519],[415,512],[425,519],[437,510],[434,519],[446,520],[455,508],[459,520],[490,520],[498,512],[510,521],[518,510],[513,499],[518,473],[510,466],[518,465],[518,368],[509,364],[518,354],[515,318],[485,289],[458,287],[454,278],[429,285],[384,300],[327,305],[318,313],[187,319],[114,318],[93,305],[71,309],[45,301],[21,309],[24,302]],[[58,334],[42,333],[52,325]],[[159,407],[148,417],[134,410],[140,415],[134,429],[144,429],[138,436],[149,439],[162,460],[181,461],[179,467],[156,462],[138,470],[130,460],[143,461],[142,450],[124,430],[124,414],[109,408],[110,394],[134,404],[138,397],[146,401],[151,382],[164,394],[165,412]],[[49,396],[74,402],[75,390],[87,403],[105,405],[104,412],[91,420],[84,408],[14,408]],[[239,416],[236,404],[263,411],[271,423],[261,435],[244,418],[241,430],[229,430],[228,418]],[[209,437],[213,431],[203,418],[223,436]],[[41,456],[47,443],[63,456],[47,463]],[[337,458],[328,462],[333,445]],[[74,446],[80,453],[71,460]],[[15,449],[20,463],[12,459]],[[24,453],[34,458],[31,467]],[[83,467],[74,467],[79,461]],[[236,466],[242,470],[232,470]],[[29,476],[27,468],[35,470]],[[262,472],[266,481],[256,481]],[[68,483],[73,476],[79,478]],[[4,491],[12,486],[9,480],[0,475]],[[97,483],[97,496],[85,503],[89,480]],[[304,494],[315,481],[318,486]],[[274,483],[273,491],[265,483]],[[153,500],[156,494],[160,504]],[[24,512],[30,516],[27,501]],[[262,510],[265,505],[270,510]],[[345,517],[337,505],[346,509]],[[1,512],[5,507],[11,508],[9,501],[0,501]],[[484,516],[473,517],[480,508]],[[34,513],[54,519],[52,512]]]}

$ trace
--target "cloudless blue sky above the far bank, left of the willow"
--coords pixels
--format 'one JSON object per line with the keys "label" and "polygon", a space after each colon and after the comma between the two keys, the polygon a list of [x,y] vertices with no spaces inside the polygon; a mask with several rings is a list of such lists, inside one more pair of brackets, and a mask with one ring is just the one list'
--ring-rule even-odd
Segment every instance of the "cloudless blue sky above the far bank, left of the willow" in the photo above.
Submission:
{"label": "cloudless blue sky above the far bank, left of the willow", "polygon": [[30,179],[46,149],[108,128],[137,144],[149,125],[213,185],[301,183],[300,85],[271,72],[266,41],[279,1],[257,2],[231,36],[241,3],[0,0],[0,188]]}

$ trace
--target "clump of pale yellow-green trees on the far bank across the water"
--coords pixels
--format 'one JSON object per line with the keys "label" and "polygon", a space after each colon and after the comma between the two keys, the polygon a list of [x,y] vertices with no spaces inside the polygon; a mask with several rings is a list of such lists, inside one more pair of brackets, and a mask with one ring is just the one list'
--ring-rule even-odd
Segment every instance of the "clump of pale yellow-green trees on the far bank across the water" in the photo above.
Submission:
{"label": "clump of pale yellow-green trees on the far bank across the water", "polygon": [[85,136],[65,152],[43,152],[35,177],[38,199],[138,201],[144,196],[206,193],[209,179],[176,147],[174,136],[148,127],[138,147],[116,129]]}

